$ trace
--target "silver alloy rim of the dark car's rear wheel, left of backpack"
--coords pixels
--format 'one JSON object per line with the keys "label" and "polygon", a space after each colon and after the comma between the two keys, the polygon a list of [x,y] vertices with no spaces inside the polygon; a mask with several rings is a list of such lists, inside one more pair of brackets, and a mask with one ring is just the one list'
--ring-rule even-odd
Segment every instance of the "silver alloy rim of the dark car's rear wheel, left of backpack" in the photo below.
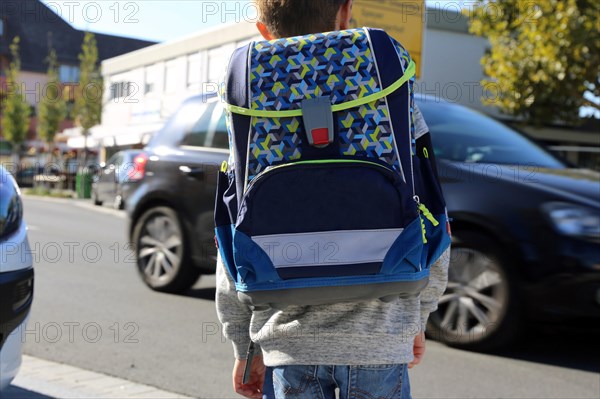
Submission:
{"label": "silver alloy rim of the dark car's rear wheel, left of backpack", "polygon": [[181,231],[168,216],[149,219],[142,229],[138,259],[144,275],[159,282],[170,280],[177,272],[183,253]]}

